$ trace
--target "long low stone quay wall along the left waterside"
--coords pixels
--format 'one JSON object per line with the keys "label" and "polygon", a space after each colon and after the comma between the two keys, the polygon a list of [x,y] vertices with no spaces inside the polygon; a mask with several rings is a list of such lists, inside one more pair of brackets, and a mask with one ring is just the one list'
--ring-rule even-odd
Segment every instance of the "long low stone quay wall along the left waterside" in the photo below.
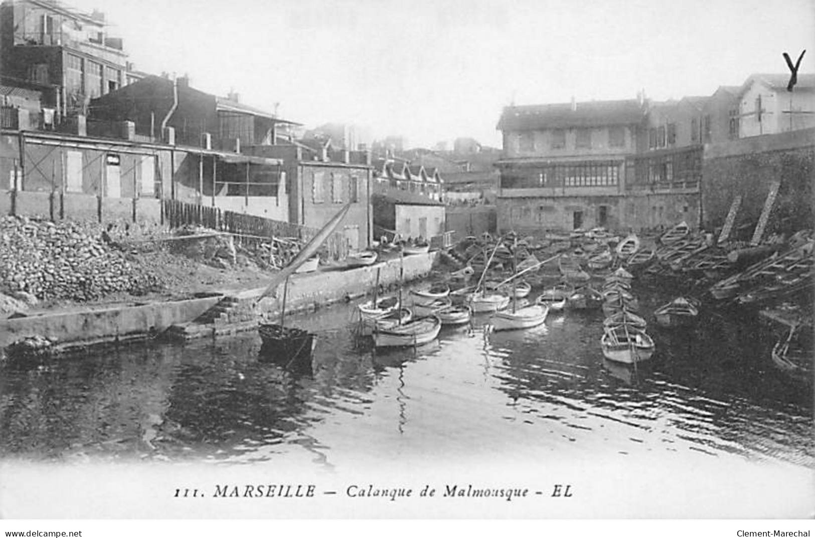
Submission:
{"label": "long low stone quay wall along the left waterside", "polygon": [[[430,273],[436,253],[404,258],[404,280],[416,280]],[[318,271],[295,275],[289,280],[286,311],[304,311],[332,302],[358,298],[372,291],[377,281],[390,286],[399,282],[399,258],[370,267],[346,271]],[[207,297],[182,301],[134,303],[35,313],[0,320],[0,349],[24,337],[46,337],[56,351],[71,351],[105,343],[121,343],[153,337],[161,333],[176,337],[218,336],[253,329],[258,312],[280,314],[282,284],[277,297],[266,297],[254,310],[263,289],[220,291]]]}

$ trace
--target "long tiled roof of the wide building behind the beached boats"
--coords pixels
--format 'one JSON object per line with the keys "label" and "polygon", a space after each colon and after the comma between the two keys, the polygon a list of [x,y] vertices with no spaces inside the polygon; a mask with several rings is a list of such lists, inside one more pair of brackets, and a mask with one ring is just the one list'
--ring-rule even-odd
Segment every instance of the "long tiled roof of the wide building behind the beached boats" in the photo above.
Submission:
{"label": "long tiled roof of the wide building behind the beached boats", "polygon": [[645,117],[637,99],[535,104],[505,107],[498,121],[500,130],[535,130],[566,127],[631,125]]}

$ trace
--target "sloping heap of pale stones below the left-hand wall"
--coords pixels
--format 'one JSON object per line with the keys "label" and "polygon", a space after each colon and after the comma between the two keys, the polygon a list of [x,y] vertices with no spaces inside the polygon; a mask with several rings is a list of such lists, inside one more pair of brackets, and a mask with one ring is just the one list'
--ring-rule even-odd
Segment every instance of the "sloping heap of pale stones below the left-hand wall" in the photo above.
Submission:
{"label": "sloping heap of pale stones below the left-hand wall", "polygon": [[117,249],[99,225],[0,218],[0,291],[93,301],[160,287],[159,278]]}

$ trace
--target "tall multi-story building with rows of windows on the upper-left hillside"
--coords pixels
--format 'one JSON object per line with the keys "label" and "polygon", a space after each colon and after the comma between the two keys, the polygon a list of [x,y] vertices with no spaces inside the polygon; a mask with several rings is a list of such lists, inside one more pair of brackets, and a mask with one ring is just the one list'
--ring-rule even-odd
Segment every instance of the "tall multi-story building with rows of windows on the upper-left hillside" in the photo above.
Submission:
{"label": "tall multi-story building with rows of windows on the upper-left hillside", "polygon": [[85,114],[90,99],[126,84],[121,38],[104,13],[76,11],[56,0],[0,5],[0,73],[5,82],[42,90],[42,121]]}

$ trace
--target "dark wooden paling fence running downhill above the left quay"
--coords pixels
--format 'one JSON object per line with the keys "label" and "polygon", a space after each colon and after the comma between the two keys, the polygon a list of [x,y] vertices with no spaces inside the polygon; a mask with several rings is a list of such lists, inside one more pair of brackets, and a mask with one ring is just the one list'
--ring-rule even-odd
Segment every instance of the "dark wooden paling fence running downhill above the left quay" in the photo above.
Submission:
{"label": "dark wooden paling fence running downhill above the left quay", "polygon": [[[218,232],[231,233],[235,236],[236,241],[245,245],[268,242],[273,237],[296,239],[301,243],[306,243],[319,232],[315,228],[298,224],[178,200],[162,200],[161,206],[164,222],[171,228],[206,227]],[[323,250],[327,252],[328,258],[344,259],[349,251],[348,240],[341,233],[334,232],[325,241]]]}

